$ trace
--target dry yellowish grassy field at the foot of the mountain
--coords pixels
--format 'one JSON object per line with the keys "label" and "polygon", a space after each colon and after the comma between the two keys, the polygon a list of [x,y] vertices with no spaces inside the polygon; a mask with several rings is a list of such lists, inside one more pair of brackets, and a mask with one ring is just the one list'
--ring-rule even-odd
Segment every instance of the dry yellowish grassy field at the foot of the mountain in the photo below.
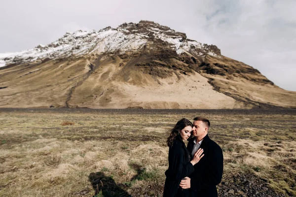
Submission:
{"label": "dry yellowish grassy field at the foot of the mountain", "polygon": [[223,150],[220,196],[296,196],[296,110],[142,109],[0,109],[0,196],[162,196],[168,129],[195,116]]}

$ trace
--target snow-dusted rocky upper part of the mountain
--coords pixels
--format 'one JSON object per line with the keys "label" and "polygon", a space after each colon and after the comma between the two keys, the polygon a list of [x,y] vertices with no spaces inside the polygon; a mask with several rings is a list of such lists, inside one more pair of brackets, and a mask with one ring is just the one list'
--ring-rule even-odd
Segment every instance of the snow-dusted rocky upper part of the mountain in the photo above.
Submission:
{"label": "snow-dusted rocky upper part of the mountain", "polygon": [[0,67],[10,64],[34,62],[43,58],[69,58],[92,53],[104,54],[118,52],[123,54],[137,51],[153,39],[160,39],[171,45],[178,54],[190,49],[202,50],[211,55],[220,55],[220,50],[212,50],[213,45],[201,44],[186,38],[185,33],[178,33],[166,26],[150,21],[140,21],[138,24],[124,23],[118,28],[107,27],[100,31],[67,32],[63,37],[48,44],[39,44],[33,49],[16,53],[0,54]]}

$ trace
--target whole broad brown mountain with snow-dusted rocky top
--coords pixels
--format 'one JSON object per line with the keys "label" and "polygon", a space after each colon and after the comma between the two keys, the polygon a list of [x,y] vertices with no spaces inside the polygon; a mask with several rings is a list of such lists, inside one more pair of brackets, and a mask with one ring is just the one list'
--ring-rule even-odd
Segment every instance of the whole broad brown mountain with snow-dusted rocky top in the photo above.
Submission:
{"label": "whole broad brown mountain with snow-dusted rocky top", "polygon": [[150,21],[0,54],[0,107],[296,107],[296,92]]}

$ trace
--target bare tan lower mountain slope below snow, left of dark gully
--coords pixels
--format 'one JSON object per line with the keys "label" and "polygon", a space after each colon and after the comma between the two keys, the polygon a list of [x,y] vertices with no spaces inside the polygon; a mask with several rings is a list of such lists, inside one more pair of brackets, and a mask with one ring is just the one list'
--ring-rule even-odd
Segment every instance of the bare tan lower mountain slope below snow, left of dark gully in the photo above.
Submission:
{"label": "bare tan lower mountain slope below snow, left of dark gully", "polygon": [[[48,61],[0,70],[1,107],[240,108],[235,99],[213,90],[198,72],[131,59]],[[142,61],[142,62],[141,62]],[[174,62],[177,60],[170,60]],[[92,63],[91,63],[92,62]],[[139,63],[140,62],[140,63]],[[159,64],[165,62],[153,60]],[[148,62],[151,63],[151,62]],[[148,64],[147,63],[147,64]],[[178,62],[183,64],[182,62]],[[94,70],[90,69],[94,66]],[[177,64],[176,64],[177,65]]]}

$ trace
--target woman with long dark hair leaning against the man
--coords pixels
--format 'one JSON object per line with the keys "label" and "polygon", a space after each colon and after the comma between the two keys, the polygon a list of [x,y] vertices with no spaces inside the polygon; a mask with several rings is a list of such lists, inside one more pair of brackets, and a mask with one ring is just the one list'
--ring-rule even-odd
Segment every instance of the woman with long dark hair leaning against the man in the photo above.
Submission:
{"label": "woman with long dark hair leaning against the man", "polygon": [[193,171],[193,165],[197,164],[204,156],[203,150],[198,149],[191,160],[183,140],[187,140],[192,131],[192,123],[183,118],[178,121],[171,130],[167,139],[169,148],[169,169],[165,172],[165,184],[163,197],[189,197],[189,191],[179,187],[182,178],[189,176]]}

